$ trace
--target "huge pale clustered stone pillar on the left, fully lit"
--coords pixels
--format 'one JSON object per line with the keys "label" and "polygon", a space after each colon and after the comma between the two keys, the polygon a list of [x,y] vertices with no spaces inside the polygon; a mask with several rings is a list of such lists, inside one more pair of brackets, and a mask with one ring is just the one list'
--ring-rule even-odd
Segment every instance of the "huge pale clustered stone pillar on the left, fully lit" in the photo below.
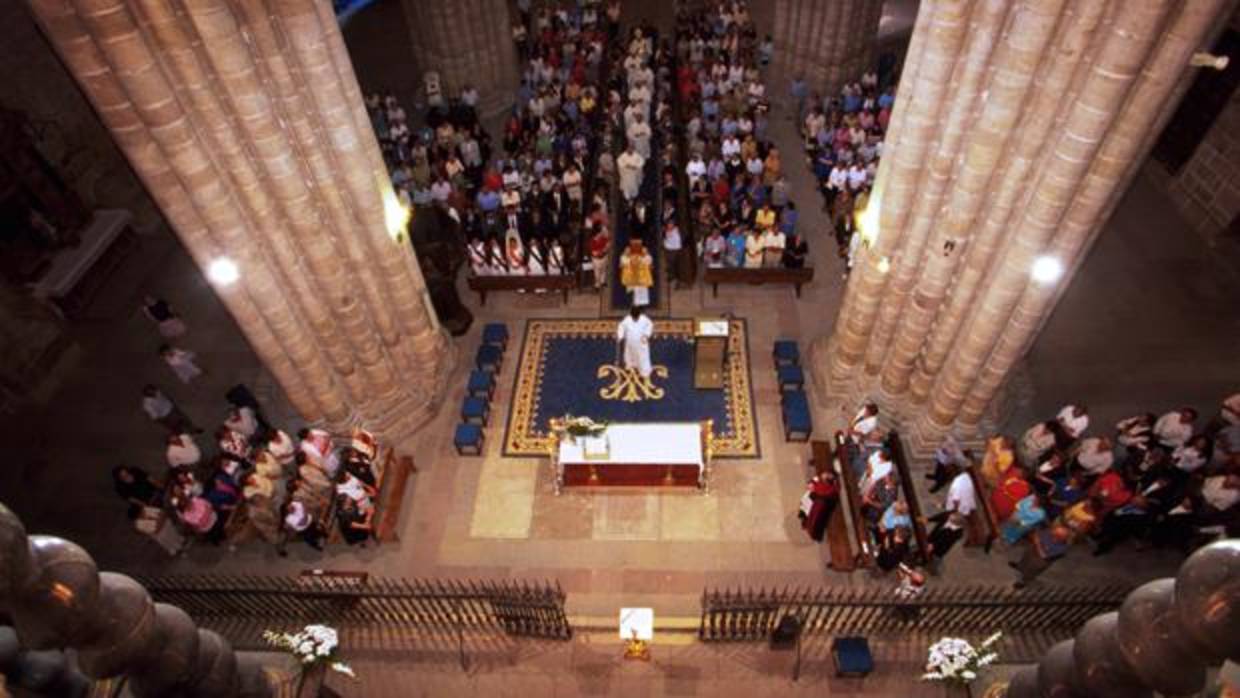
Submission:
{"label": "huge pale clustered stone pillar on the left, fully lit", "polygon": [[308,420],[399,439],[450,361],[329,2],[31,0],[181,242]]}

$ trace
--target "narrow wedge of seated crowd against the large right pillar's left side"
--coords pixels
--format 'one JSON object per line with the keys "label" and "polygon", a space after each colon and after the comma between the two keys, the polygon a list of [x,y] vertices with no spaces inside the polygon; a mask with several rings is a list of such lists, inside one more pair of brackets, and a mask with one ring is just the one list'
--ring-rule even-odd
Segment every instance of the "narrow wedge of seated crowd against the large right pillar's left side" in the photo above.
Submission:
{"label": "narrow wedge of seated crowd against the large right pillar's left side", "polygon": [[831,216],[847,275],[861,244],[856,217],[866,208],[878,172],[895,92],[892,88],[879,91],[878,77],[873,72],[844,84],[836,97],[820,99],[813,94],[806,103],[800,97],[805,89],[805,83],[797,78],[792,94],[806,112],[801,131],[806,155]]}

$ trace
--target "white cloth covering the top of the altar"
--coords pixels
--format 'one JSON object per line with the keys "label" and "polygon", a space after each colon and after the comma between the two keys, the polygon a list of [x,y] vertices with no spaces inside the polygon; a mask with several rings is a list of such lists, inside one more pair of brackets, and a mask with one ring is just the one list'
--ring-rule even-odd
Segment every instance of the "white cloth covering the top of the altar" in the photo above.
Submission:
{"label": "white cloth covering the top of the altar", "polygon": [[578,464],[657,464],[702,467],[702,424],[698,422],[609,424],[611,453],[606,459],[587,459],[582,443],[559,441],[559,462]]}

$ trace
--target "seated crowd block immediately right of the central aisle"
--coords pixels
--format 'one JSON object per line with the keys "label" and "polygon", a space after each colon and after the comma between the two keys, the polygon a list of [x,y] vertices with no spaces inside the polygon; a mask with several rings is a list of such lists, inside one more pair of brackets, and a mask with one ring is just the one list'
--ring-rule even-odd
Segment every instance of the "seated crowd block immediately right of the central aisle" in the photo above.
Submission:
{"label": "seated crowd block immediately right of the central aisle", "polygon": [[707,268],[801,268],[808,245],[779,149],[759,45],[740,0],[682,4],[676,16],[677,97],[684,119],[689,211]]}

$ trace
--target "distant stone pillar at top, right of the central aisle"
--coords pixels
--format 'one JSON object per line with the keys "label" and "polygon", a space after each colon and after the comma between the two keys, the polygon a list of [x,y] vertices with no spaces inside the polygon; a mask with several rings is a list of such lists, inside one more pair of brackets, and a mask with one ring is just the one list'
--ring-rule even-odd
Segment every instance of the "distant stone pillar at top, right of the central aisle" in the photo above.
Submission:
{"label": "distant stone pillar at top, right of the central aisle", "polygon": [[873,69],[882,16],[879,0],[775,0],[771,64],[780,94],[799,74],[827,95]]}

